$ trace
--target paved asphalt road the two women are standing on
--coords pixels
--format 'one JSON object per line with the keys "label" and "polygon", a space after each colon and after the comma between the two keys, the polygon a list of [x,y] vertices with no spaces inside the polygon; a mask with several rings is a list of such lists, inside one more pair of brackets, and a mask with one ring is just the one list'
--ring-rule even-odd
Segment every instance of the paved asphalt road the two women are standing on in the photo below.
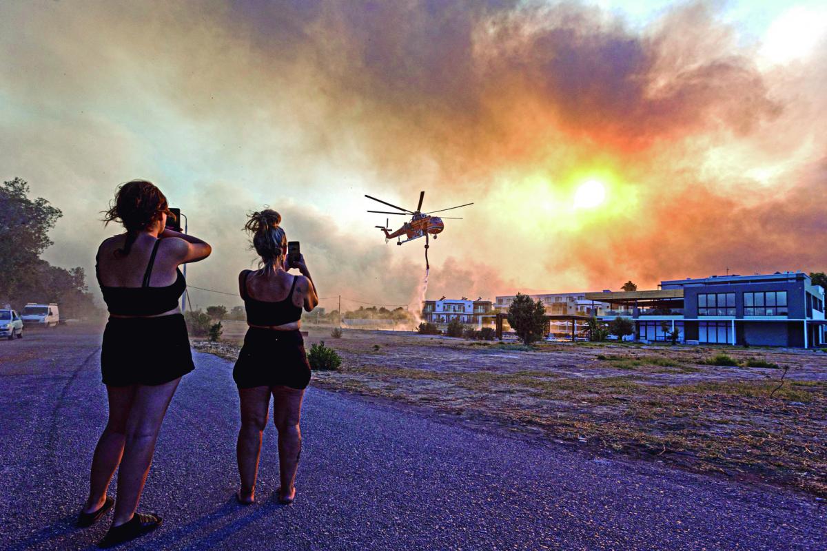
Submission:
{"label": "paved asphalt road the two women are standing on", "polygon": [[[0,549],[87,549],[72,527],[105,424],[99,334],[0,342]],[[294,506],[275,502],[275,431],[258,497],[237,506],[231,364],[196,355],[142,501],[165,525],[122,549],[827,549],[812,497],[590,458],[360,397],[308,391]]]}

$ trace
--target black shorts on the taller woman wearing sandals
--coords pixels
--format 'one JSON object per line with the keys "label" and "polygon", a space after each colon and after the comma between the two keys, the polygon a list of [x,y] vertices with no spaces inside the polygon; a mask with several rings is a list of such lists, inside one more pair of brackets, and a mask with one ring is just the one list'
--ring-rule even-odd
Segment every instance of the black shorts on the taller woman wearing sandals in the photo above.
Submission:
{"label": "black shorts on the taller woman wearing sandals", "polygon": [[103,384],[155,386],[194,368],[183,315],[109,318],[101,349]]}

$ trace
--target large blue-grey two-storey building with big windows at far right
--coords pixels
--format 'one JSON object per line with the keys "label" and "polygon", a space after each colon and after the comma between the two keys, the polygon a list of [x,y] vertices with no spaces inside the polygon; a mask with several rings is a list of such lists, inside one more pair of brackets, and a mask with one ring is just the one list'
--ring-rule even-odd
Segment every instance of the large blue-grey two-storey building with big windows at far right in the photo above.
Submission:
{"label": "large blue-grey two-storey building with big windows at far right", "polygon": [[629,311],[638,340],[810,348],[825,344],[825,290],[803,272],[662,281],[657,290],[587,292]]}

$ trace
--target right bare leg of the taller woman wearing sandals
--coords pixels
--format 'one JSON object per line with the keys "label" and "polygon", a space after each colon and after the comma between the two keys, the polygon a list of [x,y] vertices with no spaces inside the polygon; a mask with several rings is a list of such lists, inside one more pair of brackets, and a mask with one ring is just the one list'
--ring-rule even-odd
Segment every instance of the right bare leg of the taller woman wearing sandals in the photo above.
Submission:
{"label": "right bare leg of the taller woman wearing sandals", "polygon": [[117,473],[117,500],[112,526],[131,520],[141,499],[155,452],[161,422],[181,378],[154,387],[139,385],[127,418],[127,432]]}

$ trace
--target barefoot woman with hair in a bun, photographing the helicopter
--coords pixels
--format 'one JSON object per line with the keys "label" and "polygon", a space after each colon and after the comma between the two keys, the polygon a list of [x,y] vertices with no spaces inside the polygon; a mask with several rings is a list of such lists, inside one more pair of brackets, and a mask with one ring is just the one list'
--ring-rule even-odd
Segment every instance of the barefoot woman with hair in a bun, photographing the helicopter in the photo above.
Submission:
{"label": "barefoot woman with hair in a bun, photographing the helicopter", "polygon": [[[316,288],[304,257],[287,266],[287,237],[279,227],[276,211],[254,212],[246,223],[253,247],[263,267],[238,274],[238,287],[247,312],[244,347],[232,370],[241,399],[241,430],[238,431],[237,460],[241,489],[237,500],[252,503],[256,492],[261,435],[267,425],[270,395],[273,420],[279,431],[281,487],[279,501],[291,503],[299,467],[302,440],[299,430],[304,389],[310,382],[310,365],[304,354],[299,331],[302,308],[318,305]],[[302,275],[292,275],[298,268]]]}

